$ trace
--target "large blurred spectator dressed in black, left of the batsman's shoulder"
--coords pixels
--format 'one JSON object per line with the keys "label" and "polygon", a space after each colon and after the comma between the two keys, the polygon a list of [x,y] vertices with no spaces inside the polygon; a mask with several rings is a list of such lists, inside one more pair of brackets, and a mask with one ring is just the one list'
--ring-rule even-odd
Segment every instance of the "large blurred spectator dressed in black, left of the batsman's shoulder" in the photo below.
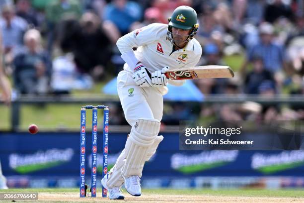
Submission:
{"label": "large blurred spectator dressed in black, left of the batsman's shoulder", "polygon": [[[105,74],[105,68],[111,58],[111,41],[102,29],[99,17],[86,12],[80,22],[63,28],[61,44],[69,47],[74,54],[77,70],[89,73],[95,80],[100,80]],[[68,29],[67,29],[68,28]]]}

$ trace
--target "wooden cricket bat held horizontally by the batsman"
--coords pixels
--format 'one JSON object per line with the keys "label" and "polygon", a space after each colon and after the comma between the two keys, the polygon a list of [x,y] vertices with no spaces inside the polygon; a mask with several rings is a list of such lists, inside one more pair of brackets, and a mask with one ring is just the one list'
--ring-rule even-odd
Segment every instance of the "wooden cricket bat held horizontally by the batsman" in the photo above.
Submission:
{"label": "wooden cricket bat held horizontally by the batsman", "polygon": [[196,66],[168,70],[165,76],[171,80],[187,80],[202,78],[233,78],[234,73],[228,66]]}

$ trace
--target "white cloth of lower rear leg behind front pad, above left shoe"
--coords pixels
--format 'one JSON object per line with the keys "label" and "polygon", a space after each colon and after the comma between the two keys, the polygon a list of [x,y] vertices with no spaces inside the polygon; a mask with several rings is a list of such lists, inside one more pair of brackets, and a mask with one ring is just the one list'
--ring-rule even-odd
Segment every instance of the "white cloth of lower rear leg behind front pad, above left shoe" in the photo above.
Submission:
{"label": "white cloth of lower rear leg behind front pad, above left shoe", "polygon": [[125,149],[120,153],[116,160],[115,165],[109,171],[109,179],[107,181],[107,186],[109,188],[120,187],[124,183],[124,178],[121,176],[121,168],[125,164]]}

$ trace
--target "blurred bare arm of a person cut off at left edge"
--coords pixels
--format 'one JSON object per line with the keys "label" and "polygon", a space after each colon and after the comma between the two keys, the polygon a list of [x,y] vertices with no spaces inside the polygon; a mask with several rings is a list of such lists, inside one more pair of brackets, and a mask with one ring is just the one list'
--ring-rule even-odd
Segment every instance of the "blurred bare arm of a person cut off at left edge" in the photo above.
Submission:
{"label": "blurred bare arm of a person cut off at left edge", "polygon": [[6,78],[3,71],[2,63],[2,36],[0,34],[0,89],[2,90],[3,100],[6,104],[10,104],[11,88],[8,79]]}

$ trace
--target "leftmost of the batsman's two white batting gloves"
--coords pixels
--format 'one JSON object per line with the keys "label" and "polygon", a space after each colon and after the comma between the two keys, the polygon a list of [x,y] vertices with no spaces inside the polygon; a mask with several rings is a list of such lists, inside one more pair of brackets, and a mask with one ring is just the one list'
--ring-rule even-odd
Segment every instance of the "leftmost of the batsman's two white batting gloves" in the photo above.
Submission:
{"label": "leftmost of the batsman's two white batting gloves", "polygon": [[136,64],[132,77],[139,87],[152,87],[151,73],[141,62]]}

